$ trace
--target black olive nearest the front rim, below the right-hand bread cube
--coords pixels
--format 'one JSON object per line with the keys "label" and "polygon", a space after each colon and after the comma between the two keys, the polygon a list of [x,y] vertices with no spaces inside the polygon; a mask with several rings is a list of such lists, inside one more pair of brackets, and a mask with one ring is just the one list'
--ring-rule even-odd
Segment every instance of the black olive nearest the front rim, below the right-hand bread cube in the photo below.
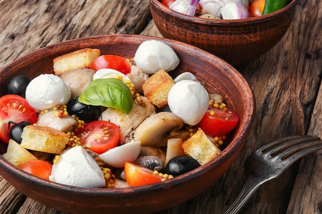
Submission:
{"label": "black olive nearest the front rim, below the right-hand bread cube", "polygon": [[199,167],[200,164],[195,159],[189,156],[177,156],[172,158],[165,167],[165,173],[171,174],[173,177],[180,176]]}

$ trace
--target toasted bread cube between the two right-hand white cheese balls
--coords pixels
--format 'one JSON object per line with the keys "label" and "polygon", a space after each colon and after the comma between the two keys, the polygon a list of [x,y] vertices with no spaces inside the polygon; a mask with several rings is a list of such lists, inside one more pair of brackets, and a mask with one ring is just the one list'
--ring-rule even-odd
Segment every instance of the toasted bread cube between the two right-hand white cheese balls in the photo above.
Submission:
{"label": "toasted bread cube between the two right-hand white cheese balls", "polygon": [[143,93],[155,106],[163,108],[168,105],[168,93],[174,80],[163,69],[154,73],[142,85]]}

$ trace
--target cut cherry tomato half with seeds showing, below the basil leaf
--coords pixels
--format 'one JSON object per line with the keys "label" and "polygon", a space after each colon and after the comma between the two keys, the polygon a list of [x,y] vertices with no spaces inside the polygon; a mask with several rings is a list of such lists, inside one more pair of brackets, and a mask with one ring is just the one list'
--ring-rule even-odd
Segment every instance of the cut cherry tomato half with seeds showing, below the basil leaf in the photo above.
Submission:
{"label": "cut cherry tomato half with seeds showing, below the basil leaf", "polygon": [[93,121],[87,123],[83,128],[75,132],[75,135],[82,138],[87,148],[102,154],[117,146],[120,139],[120,129],[109,121]]}

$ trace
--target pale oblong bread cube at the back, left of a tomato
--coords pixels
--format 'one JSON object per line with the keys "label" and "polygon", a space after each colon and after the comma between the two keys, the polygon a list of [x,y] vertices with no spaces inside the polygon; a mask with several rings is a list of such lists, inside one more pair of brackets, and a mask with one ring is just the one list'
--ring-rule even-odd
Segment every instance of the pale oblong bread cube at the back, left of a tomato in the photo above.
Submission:
{"label": "pale oblong bread cube at the back, left of a tomato", "polygon": [[88,68],[100,54],[99,49],[84,48],[58,56],[53,59],[53,71],[61,75],[73,69]]}

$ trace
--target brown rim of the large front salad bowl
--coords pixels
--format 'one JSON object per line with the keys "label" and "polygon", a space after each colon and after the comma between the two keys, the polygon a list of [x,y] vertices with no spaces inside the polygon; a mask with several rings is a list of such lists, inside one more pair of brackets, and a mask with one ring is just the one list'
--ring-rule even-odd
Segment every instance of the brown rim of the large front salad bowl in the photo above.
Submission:
{"label": "brown rim of the large front salad bowl", "polygon": [[[251,130],[255,118],[255,96],[253,93],[252,88],[249,86],[248,82],[245,80],[243,75],[237,71],[234,67],[229,65],[227,62],[224,60],[220,59],[216,55],[213,55],[209,52],[206,52],[204,50],[201,50],[199,48],[196,48],[192,45],[185,44],[183,42],[179,41],[174,41],[170,40],[167,38],[163,37],[156,37],[156,36],[148,36],[148,35],[134,35],[134,34],[108,34],[108,35],[96,35],[96,36],[88,36],[88,37],[81,37],[81,38],[75,38],[73,40],[68,40],[52,45],[48,45],[46,47],[34,50],[32,52],[29,52],[23,56],[18,57],[14,61],[10,62],[9,64],[5,65],[3,68],[0,69],[0,73],[6,72],[10,70],[12,66],[14,66],[16,63],[22,63],[25,59],[28,59],[28,57],[34,55],[34,53],[37,52],[51,52],[55,53],[57,50],[58,46],[66,46],[66,44],[73,42],[73,41],[78,41],[78,43],[86,42],[86,41],[91,41],[91,40],[99,40],[99,39],[106,39],[110,38],[111,40],[117,41],[120,39],[127,39],[127,38],[133,38],[135,40],[159,40],[159,41],[164,41],[168,44],[173,44],[173,45],[178,45],[178,46],[186,46],[189,47],[189,49],[194,49],[198,50],[199,54],[202,53],[204,54],[207,58],[212,58],[215,59],[219,64],[223,64],[226,69],[226,72],[230,72],[233,75],[237,75],[239,79],[241,80],[241,87],[245,87],[247,91],[245,91],[247,94],[249,94],[248,97],[248,108],[245,111],[245,124],[241,125],[241,131],[245,132],[246,134],[242,136],[236,136],[230,144],[224,149],[216,159],[211,160],[210,162],[206,163],[203,166],[200,166],[190,172],[187,172],[181,176],[175,177],[173,179],[166,180],[164,182],[158,182],[154,184],[149,184],[149,185],[144,185],[144,186],[138,186],[138,187],[126,187],[126,188],[115,188],[115,189],[107,189],[107,188],[84,188],[84,187],[76,187],[76,186],[69,186],[69,185],[64,185],[64,184],[59,184],[56,182],[52,181],[47,181],[38,177],[33,176],[32,174],[29,174],[18,167],[14,166],[13,164],[9,163],[7,160],[3,158],[2,155],[0,155],[0,165],[5,168],[7,171],[11,171],[15,176],[17,177],[22,177],[23,179],[26,179],[28,181],[31,181],[33,183],[38,183],[39,185],[43,186],[44,188],[58,188],[60,190],[67,190],[71,192],[76,192],[76,193],[94,193],[96,195],[106,195],[106,194],[112,194],[113,196],[115,194],[124,195],[124,194],[133,194],[134,192],[136,194],[144,193],[147,190],[148,191],[157,191],[158,189],[165,189],[169,186],[176,186],[185,183],[186,181],[193,180],[196,174],[205,174],[207,173],[211,168],[216,167],[217,165],[221,164],[220,161],[218,160],[225,160],[229,157],[229,154],[236,152],[241,144],[244,144],[246,139],[248,138],[249,131]],[[2,173],[1,173],[2,174]]]}

